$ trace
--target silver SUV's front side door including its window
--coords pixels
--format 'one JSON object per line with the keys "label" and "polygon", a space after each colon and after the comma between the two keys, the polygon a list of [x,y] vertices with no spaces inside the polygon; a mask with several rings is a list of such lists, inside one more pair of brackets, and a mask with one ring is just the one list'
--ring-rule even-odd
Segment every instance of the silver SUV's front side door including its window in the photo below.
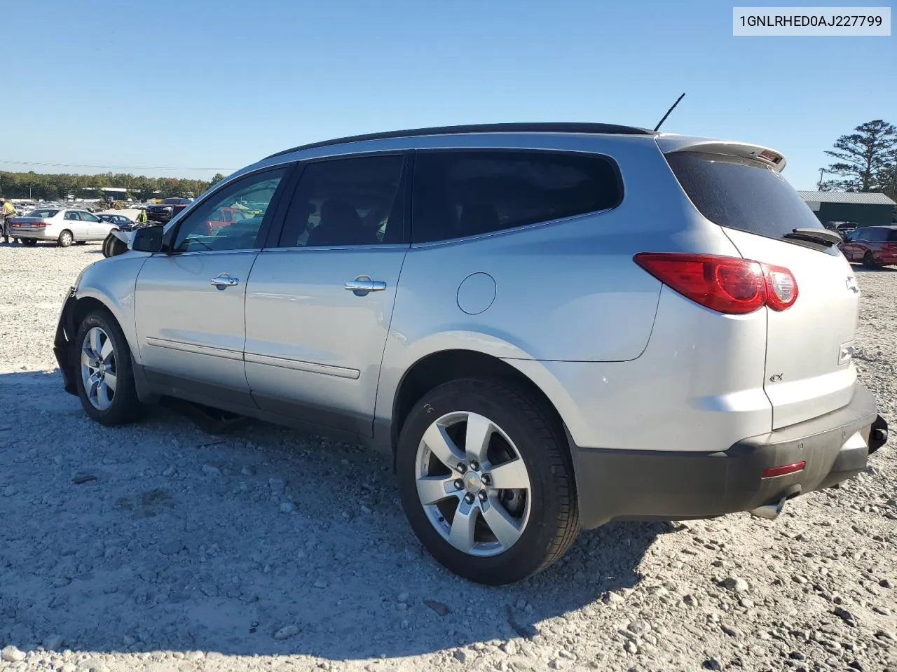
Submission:
{"label": "silver SUV's front side door including its window", "polygon": [[[246,287],[284,172],[256,173],[209,194],[176,225],[170,252],[144,263],[135,313],[151,383],[175,396],[254,406],[243,368]],[[232,207],[251,216],[209,235],[209,221]]]}

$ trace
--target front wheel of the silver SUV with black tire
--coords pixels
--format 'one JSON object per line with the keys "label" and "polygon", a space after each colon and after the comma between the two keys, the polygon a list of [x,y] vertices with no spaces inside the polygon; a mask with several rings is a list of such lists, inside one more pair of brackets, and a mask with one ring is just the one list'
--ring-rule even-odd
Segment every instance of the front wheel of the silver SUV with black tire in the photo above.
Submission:
{"label": "front wheel of the silver SUV with black tire", "polygon": [[143,410],[137,399],[131,350],[118,323],[105,310],[88,314],[74,338],[75,385],[81,405],[105,426],[125,425]]}

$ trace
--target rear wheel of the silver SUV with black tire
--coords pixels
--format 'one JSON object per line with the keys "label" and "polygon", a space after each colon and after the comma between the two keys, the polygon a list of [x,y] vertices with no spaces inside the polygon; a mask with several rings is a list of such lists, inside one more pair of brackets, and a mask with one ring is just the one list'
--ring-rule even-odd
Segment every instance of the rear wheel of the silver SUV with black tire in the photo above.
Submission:
{"label": "rear wheel of the silver SUV with black tire", "polygon": [[415,404],[396,449],[402,505],[417,537],[450,571],[489,585],[558,560],[579,534],[561,428],[502,383],[444,383]]}

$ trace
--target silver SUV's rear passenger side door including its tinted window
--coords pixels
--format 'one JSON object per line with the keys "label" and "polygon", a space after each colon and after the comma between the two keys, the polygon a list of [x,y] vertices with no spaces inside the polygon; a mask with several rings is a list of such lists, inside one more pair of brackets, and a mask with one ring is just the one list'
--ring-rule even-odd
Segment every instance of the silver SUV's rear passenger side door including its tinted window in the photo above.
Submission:
{"label": "silver SUV's rear passenger side door including its tinted window", "polygon": [[246,376],[261,409],[371,435],[408,249],[404,163],[381,155],[303,168],[278,245],[249,276]]}

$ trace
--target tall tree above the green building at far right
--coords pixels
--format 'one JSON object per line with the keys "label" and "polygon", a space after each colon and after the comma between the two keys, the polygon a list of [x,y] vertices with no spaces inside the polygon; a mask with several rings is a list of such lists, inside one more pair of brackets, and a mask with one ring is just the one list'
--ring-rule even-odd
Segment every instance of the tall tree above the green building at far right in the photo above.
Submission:
{"label": "tall tree above the green building at far right", "polygon": [[876,192],[897,201],[897,127],[884,119],[860,124],[825,153],[837,159],[822,168],[820,191]]}

